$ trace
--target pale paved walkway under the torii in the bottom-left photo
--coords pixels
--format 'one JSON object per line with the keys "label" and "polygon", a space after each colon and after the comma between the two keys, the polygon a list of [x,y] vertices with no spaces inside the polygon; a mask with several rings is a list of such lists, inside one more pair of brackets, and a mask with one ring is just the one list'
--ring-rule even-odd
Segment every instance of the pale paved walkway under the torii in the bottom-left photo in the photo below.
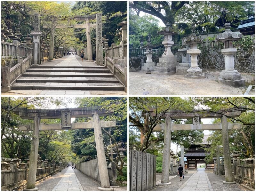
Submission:
{"label": "pale paved walkway under the torii in the bottom-left photo", "polygon": [[74,170],[68,167],[67,172],[59,181],[59,183],[52,189],[53,191],[83,191],[83,188],[76,177]]}

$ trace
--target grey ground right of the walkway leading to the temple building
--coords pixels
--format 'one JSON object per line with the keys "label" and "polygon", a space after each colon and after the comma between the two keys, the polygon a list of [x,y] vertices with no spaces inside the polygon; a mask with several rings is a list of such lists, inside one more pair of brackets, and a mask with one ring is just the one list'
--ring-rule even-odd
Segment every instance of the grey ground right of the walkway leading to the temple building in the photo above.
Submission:
{"label": "grey ground right of the walkway leading to the temple building", "polygon": [[207,176],[210,180],[212,189],[214,191],[245,191],[245,189],[241,187],[239,184],[234,184],[234,185],[223,184],[222,181],[225,180],[225,177],[223,176],[218,176],[214,173],[207,173]]}

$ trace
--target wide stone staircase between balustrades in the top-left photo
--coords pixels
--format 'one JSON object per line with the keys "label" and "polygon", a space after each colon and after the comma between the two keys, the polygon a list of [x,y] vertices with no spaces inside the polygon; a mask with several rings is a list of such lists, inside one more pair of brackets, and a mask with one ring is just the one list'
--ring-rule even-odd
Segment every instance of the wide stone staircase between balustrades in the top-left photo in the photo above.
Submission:
{"label": "wide stone staircase between balustrades in the top-left photo", "polygon": [[123,91],[106,66],[30,66],[12,90]]}

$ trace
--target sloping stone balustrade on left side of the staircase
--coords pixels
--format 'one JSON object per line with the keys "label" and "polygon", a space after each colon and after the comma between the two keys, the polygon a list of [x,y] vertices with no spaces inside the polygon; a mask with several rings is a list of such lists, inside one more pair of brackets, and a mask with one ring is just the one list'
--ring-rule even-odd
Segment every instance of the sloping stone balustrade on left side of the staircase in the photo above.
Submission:
{"label": "sloping stone balustrade on left side of the staircase", "polygon": [[28,53],[28,57],[23,59],[23,57],[18,57],[18,63],[10,68],[2,68],[2,92],[10,91],[11,85],[16,82],[16,80],[29,68],[32,64],[31,53]]}

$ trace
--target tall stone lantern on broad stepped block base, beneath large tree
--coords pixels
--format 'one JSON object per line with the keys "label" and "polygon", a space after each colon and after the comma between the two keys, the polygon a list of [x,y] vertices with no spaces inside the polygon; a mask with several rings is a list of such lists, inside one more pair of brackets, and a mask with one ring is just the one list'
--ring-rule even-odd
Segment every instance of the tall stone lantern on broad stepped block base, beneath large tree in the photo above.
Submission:
{"label": "tall stone lantern on broad stepped block base, beneath large tree", "polygon": [[178,34],[174,31],[169,23],[162,31],[157,32],[160,35],[164,35],[164,41],[162,44],[165,47],[164,53],[159,57],[159,62],[156,63],[153,74],[158,75],[173,75],[176,73],[176,66],[178,66],[177,56],[174,56],[171,47],[174,44],[172,36]]}

